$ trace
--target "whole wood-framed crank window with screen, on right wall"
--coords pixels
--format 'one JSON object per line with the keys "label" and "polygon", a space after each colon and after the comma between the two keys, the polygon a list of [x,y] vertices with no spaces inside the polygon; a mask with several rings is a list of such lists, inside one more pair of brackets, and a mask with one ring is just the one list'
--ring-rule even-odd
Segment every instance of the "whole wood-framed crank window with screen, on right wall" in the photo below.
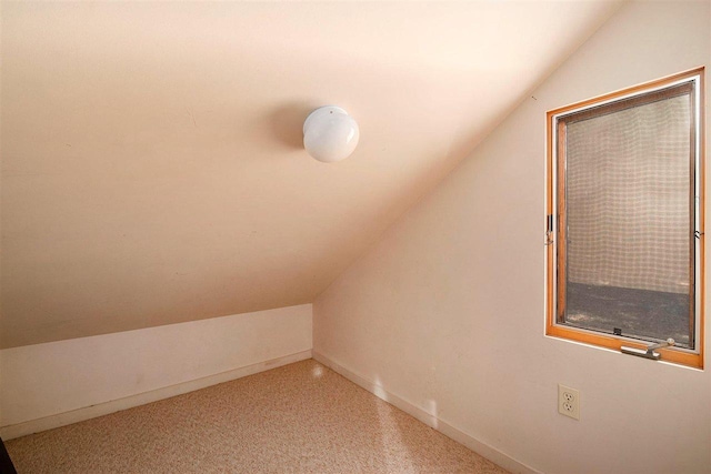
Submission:
{"label": "whole wood-framed crank window with screen, on right wall", "polygon": [[548,113],[547,334],[703,366],[702,94],[703,68]]}

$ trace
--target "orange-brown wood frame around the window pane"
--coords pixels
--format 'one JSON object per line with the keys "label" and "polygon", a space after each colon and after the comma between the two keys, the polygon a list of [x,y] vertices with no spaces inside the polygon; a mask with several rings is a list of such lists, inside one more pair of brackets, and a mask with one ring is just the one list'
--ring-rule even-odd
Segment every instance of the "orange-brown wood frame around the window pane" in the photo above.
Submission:
{"label": "orange-brown wood frame around the window pane", "polygon": [[[557,240],[560,238],[561,233],[564,235],[564,232],[559,232],[561,229],[565,229],[565,213],[560,211],[560,202],[559,198],[564,196],[564,161],[558,160],[555,150],[559,145],[564,144],[564,133],[565,129],[562,123],[558,122],[558,118],[568,113],[573,113],[581,110],[589,110],[592,114],[594,114],[594,108],[598,105],[609,105],[611,102],[618,101],[634,101],[635,97],[640,97],[644,94],[644,102],[648,101],[648,97],[650,93],[653,93],[659,89],[667,89],[674,84],[682,83],[684,81],[689,81],[691,79],[698,78],[698,90],[695,93],[698,94],[697,103],[699,105],[697,119],[698,124],[695,130],[698,130],[699,135],[698,140],[698,169],[694,170],[695,173],[695,190],[692,186],[692,195],[697,194],[695,199],[692,200],[691,205],[695,208],[694,202],[698,200],[698,216],[697,224],[692,228],[695,229],[697,238],[699,240],[699,246],[695,250],[698,252],[698,270],[694,269],[695,279],[694,279],[694,292],[698,292],[695,295],[695,317],[698,321],[698,332],[694,327],[692,334],[697,334],[697,339],[694,341],[694,350],[680,350],[677,347],[670,349],[658,349],[657,352],[661,354],[661,360],[665,362],[671,362],[675,364],[681,364],[695,369],[703,369],[703,359],[704,359],[704,301],[705,301],[705,278],[704,278],[704,213],[705,213],[705,124],[704,124],[704,68],[697,68],[690,71],[681,72],[678,74],[673,74],[667,78],[662,78],[655,81],[647,82],[643,84],[639,84],[632,88],[623,89],[617,92],[612,92],[605,95],[601,95],[598,98],[589,99],[582,102],[578,102],[571,105],[567,105],[560,109],[551,110],[547,113],[547,196],[545,196],[545,259],[547,259],[547,278],[545,278],[545,334],[553,337],[575,341],[589,345],[607,347],[614,351],[620,351],[622,345],[645,349],[648,344],[640,342],[635,339],[629,339],[624,336],[618,336],[601,332],[595,332],[592,330],[583,330],[578,327],[572,327],[568,325],[558,324],[558,319],[560,312],[564,310],[565,305],[565,278],[564,278],[564,269],[561,264],[561,256],[564,261],[565,255],[559,254],[559,250],[562,249],[562,252],[565,251],[565,246],[561,245],[560,248],[557,244]],[[555,130],[558,128],[558,130]],[[562,142],[561,142],[562,141]],[[563,179],[561,179],[561,174]],[[563,198],[564,199],[564,198]],[[697,212],[695,210],[693,211]],[[692,214],[693,215],[693,214]],[[692,245],[693,236],[692,236]],[[694,262],[691,262],[692,266]],[[561,278],[562,276],[562,278]],[[561,288],[562,285],[562,288]],[[693,314],[691,315],[693,316]],[[697,323],[694,322],[694,325]]]}

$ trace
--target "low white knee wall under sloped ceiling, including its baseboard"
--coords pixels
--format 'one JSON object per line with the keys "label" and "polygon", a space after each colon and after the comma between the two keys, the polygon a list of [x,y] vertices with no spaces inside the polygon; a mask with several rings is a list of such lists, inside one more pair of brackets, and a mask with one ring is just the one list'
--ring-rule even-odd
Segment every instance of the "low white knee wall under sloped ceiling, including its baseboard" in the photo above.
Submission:
{"label": "low white knee wall under sloped ceiling, including its baseboard", "polygon": [[309,359],[311,322],[303,304],[2,350],[0,433],[10,438]]}

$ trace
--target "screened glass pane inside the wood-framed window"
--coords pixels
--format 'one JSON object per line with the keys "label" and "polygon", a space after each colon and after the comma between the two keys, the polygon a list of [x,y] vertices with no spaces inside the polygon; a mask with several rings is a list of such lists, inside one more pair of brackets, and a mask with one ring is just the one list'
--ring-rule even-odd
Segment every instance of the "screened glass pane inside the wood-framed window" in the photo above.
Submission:
{"label": "screened glass pane inside the wood-framed window", "polygon": [[690,94],[612,110],[567,121],[564,324],[689,346]]}

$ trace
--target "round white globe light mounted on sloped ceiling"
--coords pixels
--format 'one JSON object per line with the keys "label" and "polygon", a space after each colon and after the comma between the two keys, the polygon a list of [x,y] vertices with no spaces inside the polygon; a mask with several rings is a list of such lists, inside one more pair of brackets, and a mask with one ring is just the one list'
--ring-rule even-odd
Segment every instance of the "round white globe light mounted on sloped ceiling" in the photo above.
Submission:
{"label": "round white globe light mounted on sloped ceiling", "polygon": [[358,123],[340,107],[320,107],[303,122],[303,148],[324,163],[348,158],[359,138]]}

